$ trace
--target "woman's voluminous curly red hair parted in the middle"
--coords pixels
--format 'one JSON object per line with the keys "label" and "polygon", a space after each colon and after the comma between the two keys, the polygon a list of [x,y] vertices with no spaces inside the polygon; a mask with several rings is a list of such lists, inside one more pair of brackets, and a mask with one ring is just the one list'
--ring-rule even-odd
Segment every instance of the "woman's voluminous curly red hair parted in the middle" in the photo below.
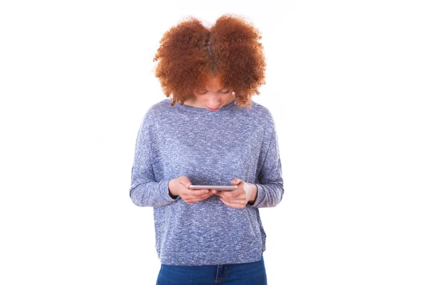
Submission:
{"label": "woman's voluminous curly red hair parted in the middle", "polygon": [[189,16],[166,31],[153,61],[163,93],[173,95],[171,106],[183,105],[193,91],[203,88],[208,76],[233,86],[238,107],[251,107],[251,96],[260,95],[265,84],[265,55],[262,38],[253,24],[225,14],[210,28]]}

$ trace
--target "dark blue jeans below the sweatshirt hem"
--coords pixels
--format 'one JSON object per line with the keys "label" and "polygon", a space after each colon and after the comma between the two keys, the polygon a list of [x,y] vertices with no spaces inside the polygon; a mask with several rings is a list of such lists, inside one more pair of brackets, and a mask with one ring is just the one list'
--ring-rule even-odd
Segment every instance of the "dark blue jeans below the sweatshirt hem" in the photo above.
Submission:
{"label": "dark blue jeans below the sweatshirt hem", "polygon": [[174,266],[161,264],[156,285],[266,285],[265,261],[243,264]]}

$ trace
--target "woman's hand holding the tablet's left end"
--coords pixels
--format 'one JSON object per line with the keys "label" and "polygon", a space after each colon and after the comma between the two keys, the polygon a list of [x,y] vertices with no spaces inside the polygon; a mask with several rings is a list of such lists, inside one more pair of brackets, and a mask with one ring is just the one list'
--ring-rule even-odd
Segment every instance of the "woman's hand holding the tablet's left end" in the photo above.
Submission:
{"label": "woman's hand holding the tablet's left end", "polygon": [[202,201],[208,197],[213,196],[217,191],[215,190],[191,190],[188,187],[192,185],[187,176],[181,175],[168,182],[170,195],[180,196],[188,204]]}

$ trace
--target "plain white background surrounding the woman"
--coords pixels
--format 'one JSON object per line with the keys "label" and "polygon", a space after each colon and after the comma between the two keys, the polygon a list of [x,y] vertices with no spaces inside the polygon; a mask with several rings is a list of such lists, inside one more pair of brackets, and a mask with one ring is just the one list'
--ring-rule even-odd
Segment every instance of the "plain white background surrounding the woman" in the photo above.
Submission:
{"label": "plain white background surrounding the woman", "polygon": [[260,209],[275,284],[428,284],[424,1],[1,1],[0,284],[155,284],[153,209],[128,191],[185,16],[262,31],[254,100],[285,195]]}

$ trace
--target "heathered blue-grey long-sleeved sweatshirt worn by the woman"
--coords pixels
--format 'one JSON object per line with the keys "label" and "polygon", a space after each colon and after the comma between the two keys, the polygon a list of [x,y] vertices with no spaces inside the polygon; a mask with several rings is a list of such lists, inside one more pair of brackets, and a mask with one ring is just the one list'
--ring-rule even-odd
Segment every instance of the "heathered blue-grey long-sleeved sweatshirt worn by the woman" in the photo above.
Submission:
{"label": "heathered blue-grey long-sleeved sweatshirt worn by the woman", "polygon": [[[259,207],[282,199],[282,170],[269,110],[235,103],[213,112],[167,98],[151,106],[138,131],[129,195],[153,207],[156,250],[162,264],[213,265],[259,261],[266,234]],[[169,180],[185,175],[193,185],[230,185],[238,177],[257,185],[244,209],[217,195],[187,204],[168,194]]]}

